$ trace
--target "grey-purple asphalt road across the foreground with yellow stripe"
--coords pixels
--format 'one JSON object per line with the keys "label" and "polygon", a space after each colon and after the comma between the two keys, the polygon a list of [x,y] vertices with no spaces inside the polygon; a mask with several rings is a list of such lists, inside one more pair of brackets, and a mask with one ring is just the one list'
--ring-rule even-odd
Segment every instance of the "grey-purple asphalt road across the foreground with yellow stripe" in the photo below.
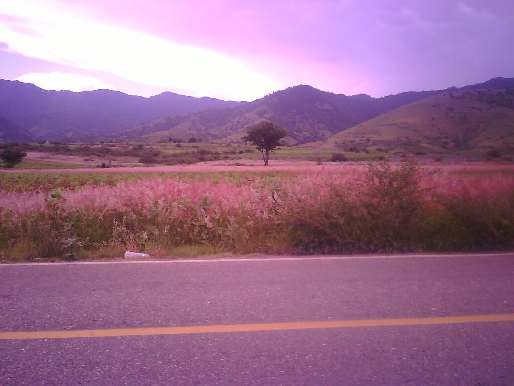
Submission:
{"label": "grey-purple asphalt road across the foreground with yellow stripe", "polygon": [[514,253],[2,265],[0,384],[512,385]]}

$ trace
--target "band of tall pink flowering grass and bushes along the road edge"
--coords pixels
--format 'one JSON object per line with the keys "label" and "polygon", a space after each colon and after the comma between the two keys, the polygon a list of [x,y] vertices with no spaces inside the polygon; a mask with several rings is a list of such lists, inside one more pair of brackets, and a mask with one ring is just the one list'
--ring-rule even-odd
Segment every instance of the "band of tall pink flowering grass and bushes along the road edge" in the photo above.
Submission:
{"label": "band of tall pink flowering grass and bushes along the road edge", "polygon": [[378,163],[269,179],[161,176],[53,193],[0,191],[0,254],[168,255],[188,245],[234,253],[511,249],[514,174],[485,174]]}

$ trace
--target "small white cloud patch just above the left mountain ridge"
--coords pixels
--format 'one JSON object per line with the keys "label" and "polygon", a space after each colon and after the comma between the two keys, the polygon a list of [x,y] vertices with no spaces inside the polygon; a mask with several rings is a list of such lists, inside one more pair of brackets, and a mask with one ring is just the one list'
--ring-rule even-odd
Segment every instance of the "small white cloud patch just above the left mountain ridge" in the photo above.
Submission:
{"label": "small white cloud patch just above the left mountain ridge", "polygon": [[69,73],[30,73],[22,75],[14,80],[24,83],[32,83],[43,90],[63,91],[69,90],[73,92],[93,91],[93,90],[116,90],[114,86],[103,83],[100,79]]}

